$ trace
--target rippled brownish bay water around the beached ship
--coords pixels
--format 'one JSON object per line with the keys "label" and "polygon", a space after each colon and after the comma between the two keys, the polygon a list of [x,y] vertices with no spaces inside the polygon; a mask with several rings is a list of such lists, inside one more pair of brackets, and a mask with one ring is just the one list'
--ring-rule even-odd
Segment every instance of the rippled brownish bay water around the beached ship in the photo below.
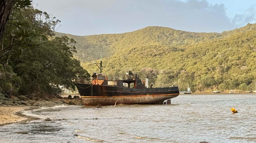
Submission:
{"label": "rippled brownish bay water around the beached ship", "polygon": [[[67,120],[6,125],[0,127],[0,142],[256,142],[256,94],[179,95],[171,105],[111,107],[24,111]],[[238,113],[232,114],[232,107]]]}

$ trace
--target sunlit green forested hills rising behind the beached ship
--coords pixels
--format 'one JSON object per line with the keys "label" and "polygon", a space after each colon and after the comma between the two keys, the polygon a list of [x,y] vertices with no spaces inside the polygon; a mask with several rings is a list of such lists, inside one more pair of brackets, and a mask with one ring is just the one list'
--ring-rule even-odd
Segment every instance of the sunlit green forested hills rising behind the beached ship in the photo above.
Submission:
{"label": "sunlit green forested hills rising behind the beached ship", "polygon": [[74,36],[75,57],[92,73],[92,60],[103,53],[103,72],[133,70],[149,75],[155,86],[176,84],[181,90],[247,90],[256,80],[256,24],[222,33],[194,33],[146,27],[122,34]]}

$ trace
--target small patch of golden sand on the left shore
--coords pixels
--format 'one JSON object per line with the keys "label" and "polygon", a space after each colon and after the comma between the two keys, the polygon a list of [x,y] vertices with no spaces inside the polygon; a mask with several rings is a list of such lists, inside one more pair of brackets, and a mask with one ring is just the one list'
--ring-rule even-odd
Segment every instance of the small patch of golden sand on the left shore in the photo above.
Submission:
{"label": "small patch of golden sand on the left shore", "polygon": [[26,118],[15,115],[15,112],[24,110],[26,107],[3,107],[0,106],[0,126],[1,124],[20,122]]}

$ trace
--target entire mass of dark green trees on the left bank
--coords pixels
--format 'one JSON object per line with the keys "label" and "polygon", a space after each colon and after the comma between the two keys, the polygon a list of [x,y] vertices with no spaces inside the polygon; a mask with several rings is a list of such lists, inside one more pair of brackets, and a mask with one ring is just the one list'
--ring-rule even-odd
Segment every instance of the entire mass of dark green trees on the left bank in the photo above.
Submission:
{"label": "entire mass of dark green trees on the left bank", "polygon": [[[15,6],[30,1],[20,1]],[[14,8],[6,24],[1,52],[0,87],[9,94],[57,95],[59,85],[75,89],[73,77],[90,77],[73,58],[75,40],[54,37],[59,20],[32,7]]]}

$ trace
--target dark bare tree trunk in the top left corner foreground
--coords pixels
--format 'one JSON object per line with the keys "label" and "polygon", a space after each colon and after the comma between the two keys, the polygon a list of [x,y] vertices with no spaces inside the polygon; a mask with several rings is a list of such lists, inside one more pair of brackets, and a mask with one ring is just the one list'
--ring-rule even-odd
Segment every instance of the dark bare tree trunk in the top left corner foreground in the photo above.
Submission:
{"label": "dark bare tree trunk in the top left corner foreground", "polygon": [[14,0],[0,0],[0,41],[3,37],[5,23],[9,18],[9,14],[13,7]]}

